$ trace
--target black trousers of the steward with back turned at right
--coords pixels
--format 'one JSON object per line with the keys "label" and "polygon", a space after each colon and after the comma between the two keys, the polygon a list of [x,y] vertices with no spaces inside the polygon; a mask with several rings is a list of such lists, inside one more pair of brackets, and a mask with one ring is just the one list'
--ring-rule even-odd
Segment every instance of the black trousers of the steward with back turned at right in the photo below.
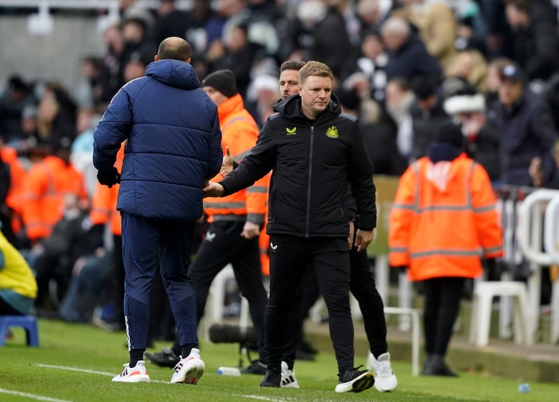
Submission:
{"label": "black trousers of the steward with back turned at right", "polygon": [[425,351],[428,355],[447,354],[465,282],[466,278],[456,277],[431,278],[423,281],[425,292],[423,330]]}

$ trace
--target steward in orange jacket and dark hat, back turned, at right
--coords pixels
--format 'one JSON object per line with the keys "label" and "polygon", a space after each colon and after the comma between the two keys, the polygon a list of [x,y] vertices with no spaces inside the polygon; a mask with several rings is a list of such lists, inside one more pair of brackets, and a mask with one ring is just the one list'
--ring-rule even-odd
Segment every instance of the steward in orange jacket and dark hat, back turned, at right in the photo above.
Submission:
{"label": "steward in orange jacket and dark hat, back turned, at right", "polygon": [[423,281],[423,375],[456,376],[444,362],[466,278],[502,256],[502,228],[486,170],[462,153],[460,126],[444,124],[428,156],[400,178],[389,220],[390,264]]}

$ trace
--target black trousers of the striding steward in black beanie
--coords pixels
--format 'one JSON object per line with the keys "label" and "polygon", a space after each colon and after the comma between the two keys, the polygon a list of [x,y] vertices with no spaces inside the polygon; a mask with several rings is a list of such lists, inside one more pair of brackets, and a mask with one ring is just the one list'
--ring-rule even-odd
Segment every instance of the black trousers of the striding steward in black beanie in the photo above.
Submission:
{"label": "black trousers of the striding steward in black beanie", "polygon": [[249,302],[250,316],[258,337],[260,359],[266,361],[263,328],[268,295],[262,283],[259,238],[241,237],[244,225],[245,222],[241,221],[213,222],[198,248],[188,274],[196,293],[196,318],[200,322],[212,281],[219,271],[231,263],[239,290]]}

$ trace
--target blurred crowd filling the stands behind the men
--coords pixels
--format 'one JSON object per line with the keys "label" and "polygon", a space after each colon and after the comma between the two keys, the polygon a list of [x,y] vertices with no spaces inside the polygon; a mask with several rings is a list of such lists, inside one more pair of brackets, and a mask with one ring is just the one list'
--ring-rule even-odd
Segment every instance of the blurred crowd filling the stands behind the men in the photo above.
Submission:
{"label": "blurred crowd filling the stands behind the men", "polygon": [[91,306],[115,293],[106,291],[116,269],[113,239],[110,230],[99,230],[110,218],[91,218],[92,132],[118,89],[144,74],[168,36],[189,41],[200,80],[233,70],[259,126],[280,98],[282,61],[328,64],[337,101],[361,122],[376,174],[400,176],[426,155],[437,128],[455,121],[465,151],[495,186],[559,188],[555,1],[193,0],[183,9],[160,0],[152,9],[121,0],[120,6],[120,21],[103,33],[105,54],[76,60],[75,88],[14,71],[0,94],[1,162],[11,175],[0,200],[2,228],[35,272],[38,312],[89,321]]}

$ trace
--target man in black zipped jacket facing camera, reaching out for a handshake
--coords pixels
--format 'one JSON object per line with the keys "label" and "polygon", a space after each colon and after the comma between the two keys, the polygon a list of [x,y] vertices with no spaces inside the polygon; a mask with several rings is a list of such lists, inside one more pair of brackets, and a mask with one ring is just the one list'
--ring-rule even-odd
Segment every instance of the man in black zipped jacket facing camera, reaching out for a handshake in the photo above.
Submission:
{"label": "man in black zipped jacket facing camera, reaching out for a handshake", "polygon": [[372,241],[377,221],[375,184],[358,121],[331,101],[333,74],[309,61],[299,72],[299,95],[275,105],[256,146],[239,167],[205,196],[246,188],[273,170],[270,184],[270,299],[266,308],[268,371],[261,387],[279,387],[284,328],[295,311],[297,284],[312,263],[326,301],[338,365],[336,392],[361,392],[375,379],[354,368],[354,329],[349,308],[349,210],[351,184],[359,214],[355,244]]}

